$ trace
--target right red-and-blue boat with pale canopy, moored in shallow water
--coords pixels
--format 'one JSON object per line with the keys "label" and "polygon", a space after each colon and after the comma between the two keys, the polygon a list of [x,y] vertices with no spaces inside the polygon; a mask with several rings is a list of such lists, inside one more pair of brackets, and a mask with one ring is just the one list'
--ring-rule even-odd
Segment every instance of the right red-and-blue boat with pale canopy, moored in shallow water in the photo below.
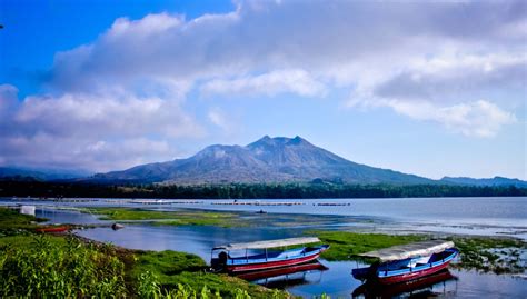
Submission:
{"label": "right red-and-blue boat with pale canopy, moored in shallow water", "polygon": [[436,273],[448,267],[459,253],[454,242],[429,240],[359,255],[376,258],[369,267],[352,270],[358,280],[370,280],[382,285],[404,282]]}

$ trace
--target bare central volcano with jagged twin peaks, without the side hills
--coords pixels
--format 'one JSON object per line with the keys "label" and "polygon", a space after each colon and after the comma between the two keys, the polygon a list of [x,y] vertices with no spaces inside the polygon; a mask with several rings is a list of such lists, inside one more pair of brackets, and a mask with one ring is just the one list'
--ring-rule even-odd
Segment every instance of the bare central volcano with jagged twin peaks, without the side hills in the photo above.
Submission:
{"label": "bare central volcano with jagged twin peaks, without the side hills", "polygon": [[268,136],[246,147],[210,146],[187,159],[98,173],[93,181],[165,183],[310,182],[435,183],[436,181],[346,160],[295,137]]}

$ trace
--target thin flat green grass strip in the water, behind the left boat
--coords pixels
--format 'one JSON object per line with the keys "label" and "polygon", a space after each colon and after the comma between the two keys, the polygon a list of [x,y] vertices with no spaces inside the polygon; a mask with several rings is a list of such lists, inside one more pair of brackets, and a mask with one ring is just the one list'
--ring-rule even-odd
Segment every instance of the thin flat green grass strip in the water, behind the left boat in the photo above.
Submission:
{"label": "thin flat green grass strip in the water, behind the left boat", "polygon": [[105,220],[142,220],[158,226],[246,226],[236,213],[211,211],[151,211],[129,208],[90,208],[84,211],[102,215]]}

